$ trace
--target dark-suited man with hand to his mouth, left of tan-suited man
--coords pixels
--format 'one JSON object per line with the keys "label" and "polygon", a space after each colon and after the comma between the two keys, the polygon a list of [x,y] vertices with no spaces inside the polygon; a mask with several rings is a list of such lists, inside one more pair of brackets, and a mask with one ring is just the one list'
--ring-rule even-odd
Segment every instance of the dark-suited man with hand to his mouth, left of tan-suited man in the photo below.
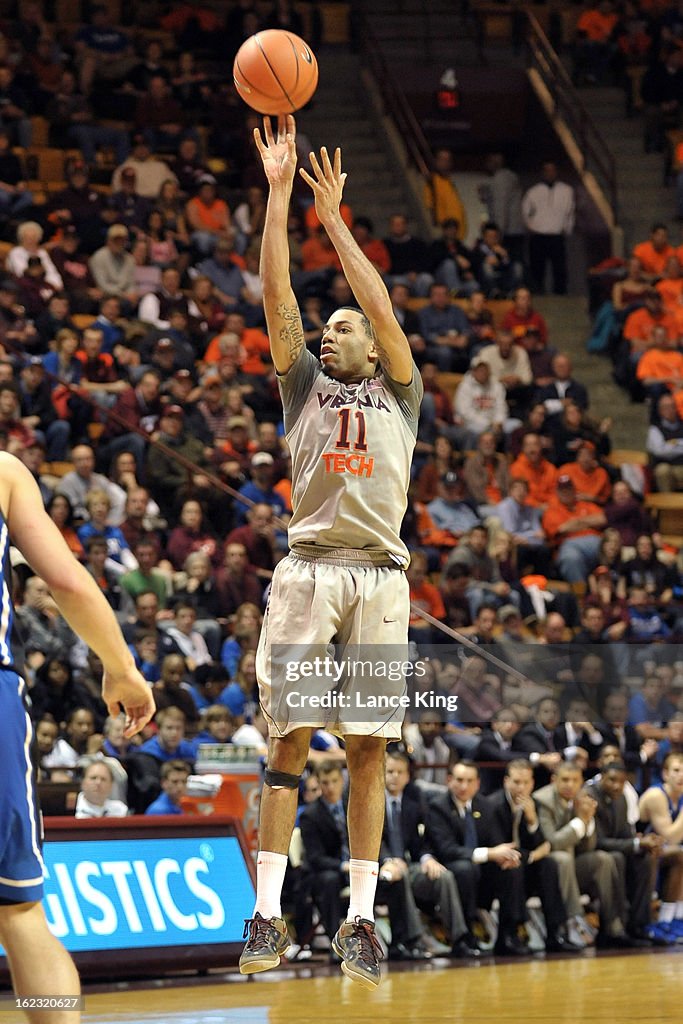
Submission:
{"label": "dark-suited man with hand to his mouth, left of tan-suited man", "polygon": [[548,856],[550,843],[543,835],[531,797],[533,768],[528,761],[510,761],[503,788],[488,798],[487,831],[490,843],[512,842],[521,854],[518,868],[524,879],[524,900],[539,896],[546,919],[546,950],[579,952],[567,937],[567,913],[560,892],[557,864]]}

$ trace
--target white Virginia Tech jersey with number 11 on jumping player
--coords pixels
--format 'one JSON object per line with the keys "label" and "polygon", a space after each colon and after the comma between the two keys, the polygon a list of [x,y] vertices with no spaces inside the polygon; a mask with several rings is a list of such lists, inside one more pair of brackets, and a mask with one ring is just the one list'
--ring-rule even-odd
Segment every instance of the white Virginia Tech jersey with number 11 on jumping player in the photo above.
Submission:
{"label": "white Virginia Tech jersey with number 11 on jumping player", "polygon": [[405,385],[384,372],[342,384],[303,349],[279,382],[292,452],[290,547],[382,551],[408,565],[399,531],[423,393],[417,368]]}

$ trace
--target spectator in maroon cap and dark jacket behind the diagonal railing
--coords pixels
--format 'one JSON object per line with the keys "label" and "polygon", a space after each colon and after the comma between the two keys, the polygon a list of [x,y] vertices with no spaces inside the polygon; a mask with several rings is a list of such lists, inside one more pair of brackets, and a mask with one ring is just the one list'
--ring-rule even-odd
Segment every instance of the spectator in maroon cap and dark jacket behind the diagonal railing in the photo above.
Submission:
{"label": "spectator in maroon cap and dark jacket behind the diagonal railing", "polygon": [[[157,439],[165,449],[182,456],[198,467],[206,464],[204,444],[185,430],[185,415],[180,406],[165,406],[159,418]],[[166,518],[173,516],[178,497],[191,486],[209,489],[209,481],[201,472],[194,472],[178,462],[174,455],[152,445],[146,459],[146,480],[152,495]]]}

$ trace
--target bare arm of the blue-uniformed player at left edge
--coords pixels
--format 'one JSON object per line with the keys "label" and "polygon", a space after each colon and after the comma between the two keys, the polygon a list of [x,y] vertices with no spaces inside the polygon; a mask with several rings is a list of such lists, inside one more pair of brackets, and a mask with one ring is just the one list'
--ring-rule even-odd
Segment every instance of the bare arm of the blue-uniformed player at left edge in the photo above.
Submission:
{"label": "bare arm of the blue-uniformed player at left edge", "polygon": [[126,712],[126,735],[132,736],[155,713],[152,690],[135,668],[110,604],[90,573],[69,550],[43,508],[29,470],[0,453],[0,508],[9,535],[31,567],[50,588],[69,625],[101,658],[102,696],[110,714]]}

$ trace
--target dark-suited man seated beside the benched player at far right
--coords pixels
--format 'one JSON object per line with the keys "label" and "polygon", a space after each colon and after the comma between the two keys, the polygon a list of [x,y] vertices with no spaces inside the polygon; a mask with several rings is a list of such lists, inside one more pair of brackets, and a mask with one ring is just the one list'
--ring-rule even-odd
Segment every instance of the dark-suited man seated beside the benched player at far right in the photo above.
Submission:
{"label": "dark-suited man seated beside the benched player at far right", "polygon": [[650,895],[661,838],[653,834],[636,836],[635,828],[629,824],[625,782],[625,766],[613,762],[605,766],[599,781],[591,785],[591,793],[598,804],[595,813],[597,849],[607,850],[623,861],[618,877],[626,880],[629,908],[626,930],[632,938],[647,941]]}

